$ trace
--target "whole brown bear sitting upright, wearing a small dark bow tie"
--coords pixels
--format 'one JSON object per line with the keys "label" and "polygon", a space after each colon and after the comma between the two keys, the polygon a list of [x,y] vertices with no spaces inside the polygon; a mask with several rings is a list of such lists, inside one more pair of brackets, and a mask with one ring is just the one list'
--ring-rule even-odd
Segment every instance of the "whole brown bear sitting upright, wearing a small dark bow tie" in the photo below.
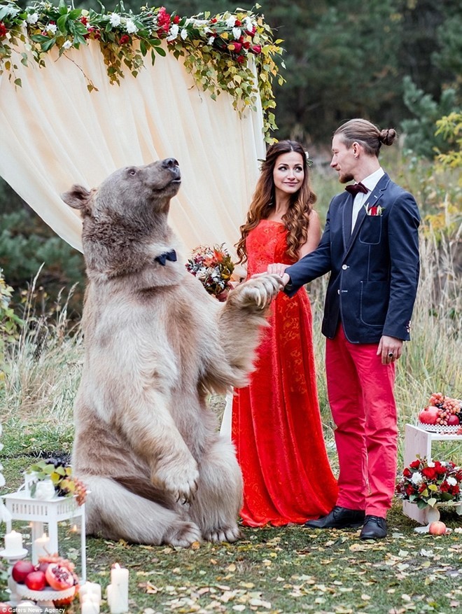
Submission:
{"label": "whole brown bear sitting upright, wearing a small dark bow tie", "polygon": [[83,217],[88,278],[72,454],[90,491],[87,533],[188,546],[239,537],[241,472],[207,395],[246,384],[281,280],[212,298],[167,223],[180,184],[169,158],[62,198]]}

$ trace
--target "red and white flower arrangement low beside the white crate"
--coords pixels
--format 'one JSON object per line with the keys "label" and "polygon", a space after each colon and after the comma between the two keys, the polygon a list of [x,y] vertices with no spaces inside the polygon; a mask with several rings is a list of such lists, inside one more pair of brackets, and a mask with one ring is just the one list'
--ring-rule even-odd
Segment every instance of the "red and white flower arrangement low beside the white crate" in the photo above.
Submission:
{"label": "red and white flower arrangement low beside the white crate", "polygon": [[413,501],[419,509],[436,503],[462,501],[462,468],[451,461],[428,461],[417,456],[402,472],[396,494]]}

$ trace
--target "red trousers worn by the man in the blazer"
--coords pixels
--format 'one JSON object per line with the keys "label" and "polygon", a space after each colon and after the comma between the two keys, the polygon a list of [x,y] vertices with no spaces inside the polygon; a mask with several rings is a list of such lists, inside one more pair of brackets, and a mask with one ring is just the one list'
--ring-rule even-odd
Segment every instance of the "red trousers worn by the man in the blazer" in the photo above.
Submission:
{"label": "red trousers worn by the man in the blazer", "polygon": [[340,325],[325,349],[328,397],[339,457],[337,505],[386,517],[395,491],[398,426],[395,364],[378,344],[346,340]]}

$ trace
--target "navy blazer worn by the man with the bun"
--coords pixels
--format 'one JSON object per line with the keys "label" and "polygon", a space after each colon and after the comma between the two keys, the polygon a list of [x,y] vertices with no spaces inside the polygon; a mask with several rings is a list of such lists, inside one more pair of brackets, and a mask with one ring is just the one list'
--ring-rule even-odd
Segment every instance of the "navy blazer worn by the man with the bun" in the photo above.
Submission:
{"label": "navy blazer worn by the man with the bun", "polygon": [[[381,215],[366,214],[379,205]],[[360,209],[353,233],[353,196],[330,202],[316,250],[286,269],[292,296],[304,284],[330,271],[323,335],[332,339],[339,321],[352,343],[376,343],[381,335],[409,340],[419,281],[419,209],[414,197],[387,174]]]}

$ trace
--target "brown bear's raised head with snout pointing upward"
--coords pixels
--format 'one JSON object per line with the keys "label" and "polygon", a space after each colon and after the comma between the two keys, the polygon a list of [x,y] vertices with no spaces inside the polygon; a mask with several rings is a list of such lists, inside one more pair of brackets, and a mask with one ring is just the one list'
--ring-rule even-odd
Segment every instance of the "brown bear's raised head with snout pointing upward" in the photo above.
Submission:
{"label": "brown bear's raised head with snout pointing upward", "polygon": [[87,273],[109,277],[139,270],[169,246],[170,199],[181,186],[174,158],[113,172],[98,188],[72,188],[61,195],[83,218]]}

